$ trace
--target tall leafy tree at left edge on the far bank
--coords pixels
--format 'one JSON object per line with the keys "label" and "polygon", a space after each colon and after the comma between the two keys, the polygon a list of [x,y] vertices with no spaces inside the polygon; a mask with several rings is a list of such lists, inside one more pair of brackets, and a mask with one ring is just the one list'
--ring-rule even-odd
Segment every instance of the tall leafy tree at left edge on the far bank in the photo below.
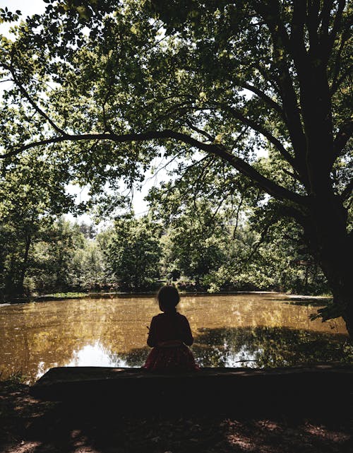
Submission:
{"label": "tall leafy tree at left edge on the far bank", "polygon": [[56,216],[73,208],[63,168],[37,153],[23,155],[0,176],[0,293],[23,295],[35,243]]}

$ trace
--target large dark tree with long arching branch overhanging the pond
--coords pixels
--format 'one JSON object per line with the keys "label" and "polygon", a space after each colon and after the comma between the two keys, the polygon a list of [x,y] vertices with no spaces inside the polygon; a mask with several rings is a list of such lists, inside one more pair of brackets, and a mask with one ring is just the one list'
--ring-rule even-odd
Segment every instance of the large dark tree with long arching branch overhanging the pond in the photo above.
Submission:
{"label": "large dark tree with long arching branch overhanging the pond", "polygon": [[349,1],[48,1],[1,43],[2,158],[57,153],[93,191],[161,145],[221,161],[299,223],[352,336]]}

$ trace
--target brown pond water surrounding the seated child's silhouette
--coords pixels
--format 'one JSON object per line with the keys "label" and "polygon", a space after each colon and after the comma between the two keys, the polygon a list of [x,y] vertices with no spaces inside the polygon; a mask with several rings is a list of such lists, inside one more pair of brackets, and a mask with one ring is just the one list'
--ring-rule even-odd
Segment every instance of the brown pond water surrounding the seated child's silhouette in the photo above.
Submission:
{"label": "brown pond water surrounding the seated child's silhouette", "polygon": [[[295,303],[293,303],[295,302]],[[342,319],[311,322],[317,300],[278,293],[184,296],[201,366],[278,366],[342,360]],[[305,303],[306,305],[302,305]],[[152,297],[0,305],[0,371],[34,382],[54,366],[143,365]]]}

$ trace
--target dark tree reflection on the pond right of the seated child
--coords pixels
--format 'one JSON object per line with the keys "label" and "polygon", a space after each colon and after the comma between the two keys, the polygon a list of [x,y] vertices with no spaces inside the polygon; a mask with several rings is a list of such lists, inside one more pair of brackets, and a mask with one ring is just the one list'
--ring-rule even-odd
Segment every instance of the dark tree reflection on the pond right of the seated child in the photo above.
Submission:
{"label": "dark tree reflection on the pond right of the seated child", "polygon": [[[202,367],[353,363],[353,347],[347,336],[286,327],[200,329],[191,349]],[[147,353],[147,348],[136,348],[119,356],[129,367],[138,367],[143,364]]]}

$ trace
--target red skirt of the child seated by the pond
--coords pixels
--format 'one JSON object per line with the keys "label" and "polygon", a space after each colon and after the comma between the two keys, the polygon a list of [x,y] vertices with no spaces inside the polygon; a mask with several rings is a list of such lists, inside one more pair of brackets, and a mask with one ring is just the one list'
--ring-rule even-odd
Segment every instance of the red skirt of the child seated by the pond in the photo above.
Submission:
{"label": "red skirt of the child seated by the pond", "polygon": [[199,370],[193,353],[184,344],[178,346],[155,346],[148,354],[143,368],[148,371]]}

